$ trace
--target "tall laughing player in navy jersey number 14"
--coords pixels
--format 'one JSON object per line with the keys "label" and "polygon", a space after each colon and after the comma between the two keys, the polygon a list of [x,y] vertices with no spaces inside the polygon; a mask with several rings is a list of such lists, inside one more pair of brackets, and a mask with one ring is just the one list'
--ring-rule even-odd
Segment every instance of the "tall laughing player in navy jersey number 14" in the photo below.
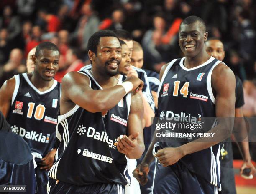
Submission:
{"label": "tall laughing player in navy jersey number 14", "polygon": [[181,23],[179,46],[185,57],[172,60],[161,69],[158,112],[160,117],[171,119],[225,119],[218,119],[218,125],[208,131],[216,133],[208,141],[200,137],[188,143],[179,138],[156,142],[154,134],[146,156],[133,174],[141,184],[147,182],[153,151],[157,159],[153,184],[155,194],[217,194],[218,189],[221,190],[218,142],[225,139],[223,132],[233,129],[232,119],[226,117],[234,117],[235,76],[223,62],[205,51],[208,36],[205,29],[205,23],[197,16],[189,16]]}

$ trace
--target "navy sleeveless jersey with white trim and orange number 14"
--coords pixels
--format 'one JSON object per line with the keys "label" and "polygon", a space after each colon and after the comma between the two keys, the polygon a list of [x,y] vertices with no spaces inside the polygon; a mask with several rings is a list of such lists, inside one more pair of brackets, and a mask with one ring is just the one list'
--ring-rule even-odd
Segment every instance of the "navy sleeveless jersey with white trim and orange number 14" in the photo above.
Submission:
{"label": "navy sleeveless jersey with white trim and orange number 14", "polygon": [[[184,59],[185,57],[172,60],[166,67],[158,90],[158,117],[168,117],[174,120],[183,118],[190,123],[197,122],[201,117],[215,117],[215,97],[211,88],[211,74],[220,61],[211,57],[202,65],[188,69],[183,64]],[[212,127],[212,125],[209,126]],[[162,149],[177,147],[184,143],[184,141],[175,142],[174,140],[156,144]],[[211,184],[218,185],[220,189],[219,144],[188,154],[180,161],[189,170],[204,177]]]}

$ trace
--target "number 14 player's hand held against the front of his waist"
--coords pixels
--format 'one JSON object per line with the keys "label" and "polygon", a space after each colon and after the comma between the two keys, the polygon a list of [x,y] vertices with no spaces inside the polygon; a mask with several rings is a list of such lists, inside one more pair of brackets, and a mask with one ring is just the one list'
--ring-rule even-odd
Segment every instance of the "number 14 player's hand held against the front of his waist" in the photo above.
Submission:
{"label": "number 14 player's hand held against the front of his waist", "polygon": [[183,157],[179,147],[166,147],[159,149],[156,153],[156,158],[163,167],[175,164]]}

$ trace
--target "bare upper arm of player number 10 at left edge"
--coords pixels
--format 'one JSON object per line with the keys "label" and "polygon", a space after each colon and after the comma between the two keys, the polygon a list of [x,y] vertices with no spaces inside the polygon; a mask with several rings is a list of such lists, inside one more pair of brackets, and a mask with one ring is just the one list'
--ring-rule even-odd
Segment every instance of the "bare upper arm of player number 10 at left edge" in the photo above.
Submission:
{"label": "bare upper arm of player number 10 at left edge", "polygon": [[0,89],[0,110],[7,117],[10,110],[13,92],[15,88],[15,78],[6,80]]}

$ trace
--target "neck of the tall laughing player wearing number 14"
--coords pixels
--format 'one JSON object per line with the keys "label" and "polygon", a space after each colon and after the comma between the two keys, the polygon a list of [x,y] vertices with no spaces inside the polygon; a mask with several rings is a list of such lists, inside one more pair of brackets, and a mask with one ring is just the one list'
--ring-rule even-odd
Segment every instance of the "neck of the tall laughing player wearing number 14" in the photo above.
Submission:
{"label": "neck of the tall laughing player wearing number 14", "polygon": [[184,60],[184,66],[188,69],[202,65],[204,62],[210,59],[210,55],[207,52],[202,52],[195,57],[186,57]]}

